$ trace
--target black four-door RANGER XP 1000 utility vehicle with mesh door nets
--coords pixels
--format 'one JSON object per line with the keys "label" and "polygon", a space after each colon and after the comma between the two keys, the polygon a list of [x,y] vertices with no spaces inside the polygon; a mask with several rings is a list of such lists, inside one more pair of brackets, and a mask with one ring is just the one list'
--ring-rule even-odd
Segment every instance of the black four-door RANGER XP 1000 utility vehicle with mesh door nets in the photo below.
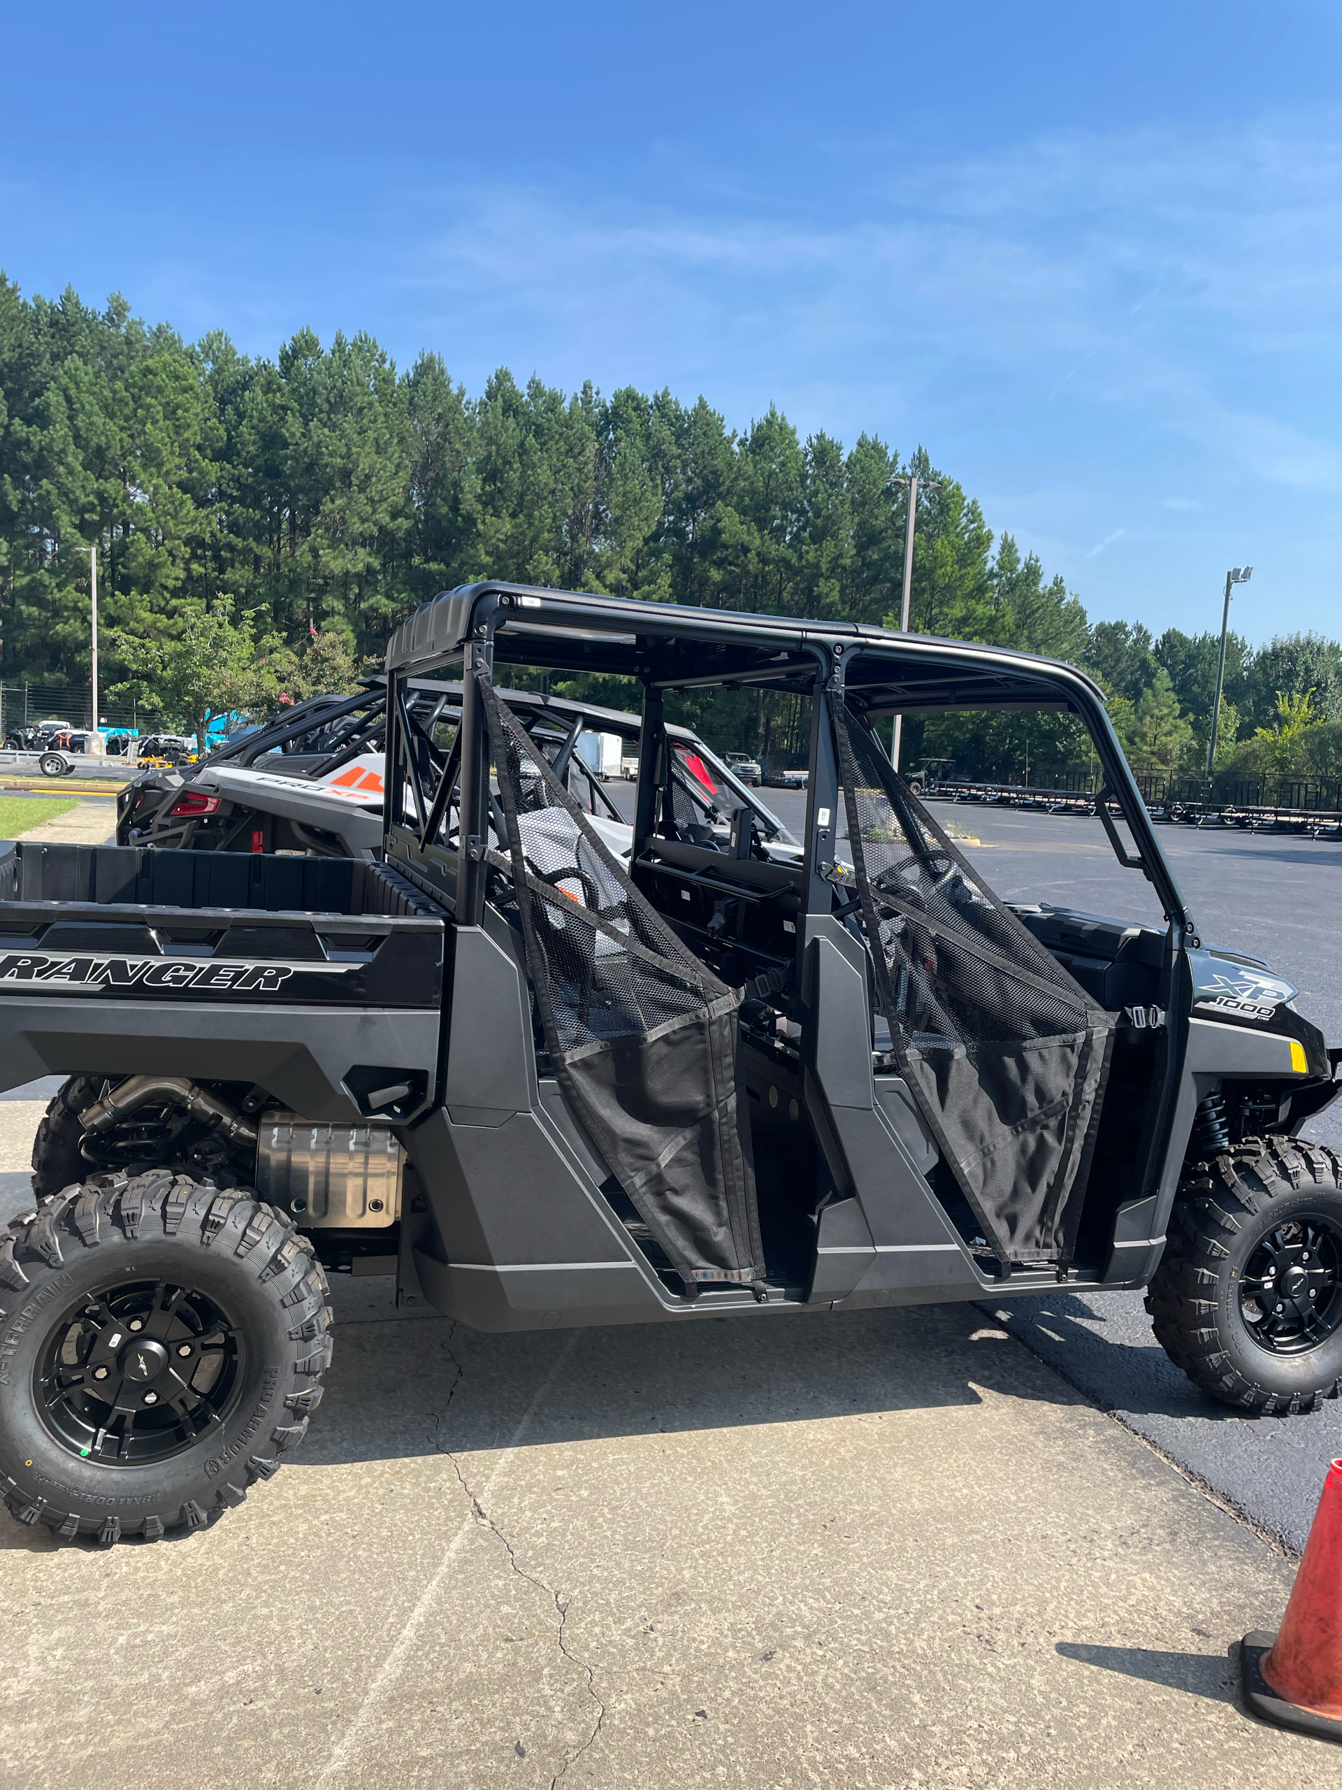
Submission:
{"label": "black four-door RANGER XP 1000 utility vehicle with mesh door nets", "polygon": [[[641,682],[628,856],[508,666]],[[0,856],[4,1085],[73,1078],[0,1244],[21,1522],[115,1541],[240,1502],[320,1400],[327,1269],[483,1330],[1149,1282],[1217,1398],[1338,1391],[1338,1164],[1295,1138],[1337,1053],[1202,942],[1081,673],[481,584],[386,675],[379,863]],[[410,700],[429,677],[462,684],[453,725]],[[809,709],[800,847],[687,798],[664,702],[712,686]],[[1088,727],[1115,882],[1165,925],[1000,902],[891,770],[893,714],[1000,705]]]}

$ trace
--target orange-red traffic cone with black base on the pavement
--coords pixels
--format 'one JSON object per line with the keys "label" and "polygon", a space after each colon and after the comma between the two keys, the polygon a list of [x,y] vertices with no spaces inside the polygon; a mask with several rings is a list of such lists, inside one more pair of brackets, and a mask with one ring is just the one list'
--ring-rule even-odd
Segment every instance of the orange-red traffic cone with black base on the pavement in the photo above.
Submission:
{"label": "orange-red traffic cone with black base on the pavement", "polygon": [[1328,1468],[1278,1634],[1245,1634],[1244,1697],[1254,1715],[1342,1740],[1342,1461]]}

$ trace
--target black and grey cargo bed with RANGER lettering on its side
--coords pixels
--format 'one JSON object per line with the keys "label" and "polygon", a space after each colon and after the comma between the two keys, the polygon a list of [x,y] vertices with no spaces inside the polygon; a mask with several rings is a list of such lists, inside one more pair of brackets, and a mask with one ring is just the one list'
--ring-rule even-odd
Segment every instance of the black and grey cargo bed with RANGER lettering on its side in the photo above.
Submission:
{"label": "black and grey cargo bed with RANGER lettering on its side", "polygon": [[0,1087],[224,1074],[338,1121],[408,1081],[401,1119],[435,1094],[444,947],[385,865],[4,841]]}

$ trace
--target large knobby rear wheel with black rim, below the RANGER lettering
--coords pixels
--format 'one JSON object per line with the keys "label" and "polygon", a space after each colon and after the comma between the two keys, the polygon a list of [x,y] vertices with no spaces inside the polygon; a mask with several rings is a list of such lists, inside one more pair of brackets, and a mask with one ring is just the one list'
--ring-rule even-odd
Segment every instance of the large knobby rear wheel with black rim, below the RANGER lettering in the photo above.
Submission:
{"label": "large knobby rear wheel with black rim, below the RANGER lettering", "polygon": [[61,1536],[200,1529],[306,1434],[326,1274],[251,1192],[97,1176],[0,1233],[0,1496]]}

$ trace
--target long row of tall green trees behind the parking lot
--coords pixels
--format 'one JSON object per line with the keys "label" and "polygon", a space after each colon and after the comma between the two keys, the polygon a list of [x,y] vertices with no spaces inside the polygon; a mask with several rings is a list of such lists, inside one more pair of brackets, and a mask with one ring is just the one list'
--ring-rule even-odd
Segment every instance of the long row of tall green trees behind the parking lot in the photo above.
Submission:
{"label": "long row of tall green trees behind the parking lot", "polygon": [[[186,344],[118,295],[100,311],[73,292],[25,299],[4,276],[0,675],[88,678],[93,542],[113,686],[143,682],[140,668],[222,603],[279,643],[272,669],[288,652],[295,689],[347,687],[415,603],[487,576],[896,623],[909,473],[938,482],[918,505],[914,628],[1081,664],[1134,752],[1163,763],[1188,729],[1179,757],[1206,759],[1217,635],[1090,626],[1081,598],[1009,533],[995,539],[925,448],[902,460],[870,433],[852,449],[825,431],[802,440],[777,408],[737,435],[705,396],[565,394],[506,369],[472,397],[437,354],[401,372],[363,333],[324,345],[299,329],[252,358],[222,331]],[[304,669],[313,635],[324,644]],[[1251,653],[1231,634],[1219,766],[1240,763],[1240,732],[1276,737],[1278,691],[1312,691],[1312,716],[1342,721],[1342,646],[1295,634]],[[718,745],[793,750],[791,700],[678,702]],[[1317,727],[1301,737],[1301,763],[1328,761]],[[911,721],[905,741],[984,775],[1016,775],[1025,754],[1088,763],[1066,718]]]}

